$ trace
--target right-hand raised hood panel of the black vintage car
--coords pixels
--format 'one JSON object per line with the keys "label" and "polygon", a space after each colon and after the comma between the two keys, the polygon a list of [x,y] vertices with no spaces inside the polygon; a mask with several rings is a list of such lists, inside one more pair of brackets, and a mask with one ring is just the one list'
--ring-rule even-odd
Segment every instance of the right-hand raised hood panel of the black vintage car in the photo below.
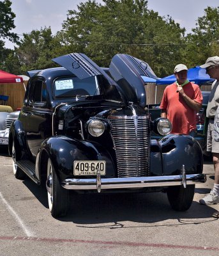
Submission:
{"label": "right-hand raised hood panel of the black vintage car", "polygon": [[129,102],[146,106],[146,91],[141,76],[156,79],[149,65],[128,54],[116,54],[110,63],[110,76],[125,92]]}

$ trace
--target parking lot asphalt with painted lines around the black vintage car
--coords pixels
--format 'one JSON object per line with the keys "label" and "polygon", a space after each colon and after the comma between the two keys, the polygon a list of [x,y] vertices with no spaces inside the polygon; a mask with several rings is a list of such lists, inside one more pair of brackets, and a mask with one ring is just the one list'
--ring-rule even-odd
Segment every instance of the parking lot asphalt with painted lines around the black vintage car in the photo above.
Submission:
{"label": "parking lot asphalt with painted lines around the black vintage car", "polygon": [[0,148],[0,255],[218,255],[219,205],[200,205],[214,169],[199,184],[190,209],[176,212],[164,193],[72,196],[68,215],[54,219],[46,191],[13,176]]}

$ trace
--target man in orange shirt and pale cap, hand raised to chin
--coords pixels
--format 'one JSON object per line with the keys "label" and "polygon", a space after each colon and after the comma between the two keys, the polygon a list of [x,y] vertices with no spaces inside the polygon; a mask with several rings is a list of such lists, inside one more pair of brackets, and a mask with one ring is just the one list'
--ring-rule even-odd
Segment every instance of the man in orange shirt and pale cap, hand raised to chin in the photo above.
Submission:
{"label": "man in orange shirt and pale cap, hand raised to chin", "polygon": [[202,93],[197,84],[187,79],[188,68],[178,64],[174,68],[176,82],[168,85],[160,104],[161,117],[172,123],[172,133],[195,135],[196,113],[202,107]]}

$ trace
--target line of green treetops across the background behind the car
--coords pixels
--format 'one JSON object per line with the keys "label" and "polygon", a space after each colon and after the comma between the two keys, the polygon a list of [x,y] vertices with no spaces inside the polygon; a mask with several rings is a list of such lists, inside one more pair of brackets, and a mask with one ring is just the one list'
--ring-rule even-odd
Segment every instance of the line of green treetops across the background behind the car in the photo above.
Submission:
{"label": "line of green treetops across the background behind the car", "polygon": [[[0,3],[8,4],[4,13],[11,12],[10,1]],[[145,0],[87,0],[68,11],[56,35],[50,27],[24,33],[12,52],[3,52],[0,44],[0,68],[17,67],[17,72],[25,73],[53,67],[52,58],[70,52],[83,52],[100,67],[108,67],[114,54],[125,53],[149,63],[158,77],[168,76],[178,63],[194,67],[219,54],[219,6],[206,8],[192,33],[185,32],[169,15],[149,10]]]}

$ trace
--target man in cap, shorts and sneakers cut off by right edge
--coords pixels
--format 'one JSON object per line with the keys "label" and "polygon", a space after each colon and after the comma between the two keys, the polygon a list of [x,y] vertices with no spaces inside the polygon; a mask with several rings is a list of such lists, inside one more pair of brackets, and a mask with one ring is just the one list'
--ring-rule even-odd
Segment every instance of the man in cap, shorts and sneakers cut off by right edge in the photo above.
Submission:
{"label": "man in cap, shorts and sneakers cut off by right edge", "polygon": [[[212,205],[219,203],[219,142],[214,138],[214,120],[216,109],[219,105],[219,57],[213,56],[206,60],[201,68],[206,68],[206,73],[215,81],[211,86],[211,93],[209,95],[208,107],[206,109],[206,116],[209,118],[208,136],[207,136],[207,151],[212,152],[213,164],[215,168],[215,184],[211,192],[203,199],[200,199],[200,204]],[[219,218],[219,213],[215,212],[214,217]]]}

